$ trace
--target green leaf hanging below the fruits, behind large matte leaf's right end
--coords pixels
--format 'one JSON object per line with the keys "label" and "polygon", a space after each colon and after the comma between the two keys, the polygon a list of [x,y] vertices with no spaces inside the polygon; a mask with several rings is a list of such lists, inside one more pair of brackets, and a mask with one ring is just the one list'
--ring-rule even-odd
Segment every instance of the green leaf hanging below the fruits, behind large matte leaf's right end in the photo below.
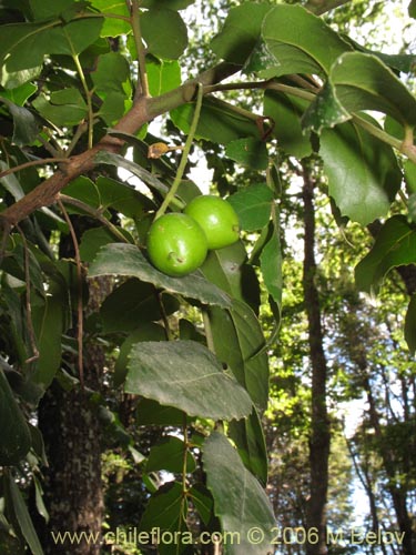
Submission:
{"label": "green leaf hanging below the fruits, behind large matte leaf's right end", "polygon": [[268,401],[268,361],[258,320],[245,303],[234,300],[231,311],[209,311],[214,349],[263,412]]}

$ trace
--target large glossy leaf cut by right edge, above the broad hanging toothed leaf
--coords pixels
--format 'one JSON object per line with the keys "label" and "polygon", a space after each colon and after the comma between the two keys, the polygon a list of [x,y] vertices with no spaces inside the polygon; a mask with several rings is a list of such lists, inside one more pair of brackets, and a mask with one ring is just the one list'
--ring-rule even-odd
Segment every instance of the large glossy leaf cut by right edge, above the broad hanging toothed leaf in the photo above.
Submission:
{"label": "large glossy leaf cut by right edge, above the broad hanging toothed leaf", "polygon": [[[341,56],[331,68],[329,87],[334,99],[348,114],[373,110],[388,114],[404,125],[416,124],[415,97],[375,56],[361,52]],[[325,97],[319,94],[314,105],[322,111],[325,102]]]}

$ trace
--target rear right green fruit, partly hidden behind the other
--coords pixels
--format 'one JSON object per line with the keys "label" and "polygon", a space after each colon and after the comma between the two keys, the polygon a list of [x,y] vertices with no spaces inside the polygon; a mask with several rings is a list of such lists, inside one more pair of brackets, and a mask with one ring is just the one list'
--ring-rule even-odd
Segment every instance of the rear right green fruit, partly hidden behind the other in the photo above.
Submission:
{"label": "rear right green fruit, partly hidden behind the other", "polygon": [[185,206],[184,213],[204,230],[209,249],[222,249],[239,239],[239,216],[233,206],[220,196],[196,196]]}

